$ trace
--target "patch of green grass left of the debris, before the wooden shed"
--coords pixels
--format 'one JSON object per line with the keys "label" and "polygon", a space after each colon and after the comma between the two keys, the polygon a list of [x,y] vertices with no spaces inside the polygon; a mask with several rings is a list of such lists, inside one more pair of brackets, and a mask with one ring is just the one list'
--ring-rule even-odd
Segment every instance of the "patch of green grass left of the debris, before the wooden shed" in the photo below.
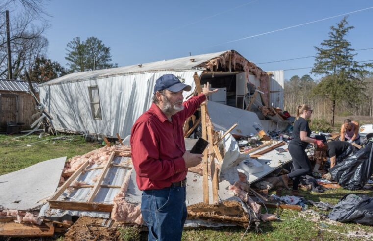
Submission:
{"label": "patch of green grass left of the debris, before the wooden shed", "polygon": [[[16,136],[0,135],[0,175],[53,158],[67,156],[69,159],[101,147],[96,143],[87,143],[82,136],[60,134],[39,138],[38,135],[30,135],[15,141],[13,138]],[[43,141],[64,136],[67,139]],[[31,144],[34,142],[39,143]]]}

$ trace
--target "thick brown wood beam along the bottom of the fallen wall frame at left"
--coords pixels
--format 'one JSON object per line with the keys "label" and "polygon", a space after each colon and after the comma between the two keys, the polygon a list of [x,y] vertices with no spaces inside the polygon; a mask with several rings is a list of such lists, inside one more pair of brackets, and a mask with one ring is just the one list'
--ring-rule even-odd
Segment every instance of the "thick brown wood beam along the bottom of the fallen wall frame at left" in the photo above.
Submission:
{"label": "thick brown wood beam along the bottom of the fallen wall frame at left", "polygon": [[104,204],[96,202],[70,202],[48,200],[50,208],[63,210],[80,210],[80,211],[95,211],[95,212],[110,212],[113,210],[114,204]]}

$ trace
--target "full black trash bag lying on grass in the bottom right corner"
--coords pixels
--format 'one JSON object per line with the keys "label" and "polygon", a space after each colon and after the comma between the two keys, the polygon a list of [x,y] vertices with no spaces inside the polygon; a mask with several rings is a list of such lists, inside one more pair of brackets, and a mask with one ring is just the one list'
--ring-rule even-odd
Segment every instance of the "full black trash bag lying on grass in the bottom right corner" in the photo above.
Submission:
{"label": "full black trash bag lying on grass in the bottom right corner", "polygon": [[347,194],[333,207],[329,219],[373,225],[373,197]]}

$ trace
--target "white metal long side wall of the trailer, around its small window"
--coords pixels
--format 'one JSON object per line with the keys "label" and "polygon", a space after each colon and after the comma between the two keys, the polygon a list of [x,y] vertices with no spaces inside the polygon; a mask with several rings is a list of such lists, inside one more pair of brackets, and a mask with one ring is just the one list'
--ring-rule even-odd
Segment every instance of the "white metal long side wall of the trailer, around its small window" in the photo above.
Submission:
{"label": "white metal long side wall of the trailer, around its small window", "polygon": [[[53,117],[56,129],[89,131],[115,137],[125,137],[137,118],[149,109],[155,81],[163,74],[172,73],[192,86],[193,75],[203,70],[179,72],[146,72],[119,75],[93,80],[39,86],[40,101]],[[97,86],[102,120],[92,116],[88,87]]]}

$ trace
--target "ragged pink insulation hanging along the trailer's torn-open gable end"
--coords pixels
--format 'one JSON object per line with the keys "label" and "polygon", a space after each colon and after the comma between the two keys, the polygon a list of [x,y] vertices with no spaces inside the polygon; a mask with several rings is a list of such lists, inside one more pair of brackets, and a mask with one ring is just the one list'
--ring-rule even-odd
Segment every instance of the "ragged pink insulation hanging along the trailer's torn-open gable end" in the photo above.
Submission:
{"label": "ragged pink insulation hanging along the trailer's torn-open gable end", "polygon": [[[203,67],[209,71],[229,71],[229,56],[230,66],[232,71],[245,71],[246,79],[249,81],[249,73],[253,73],[256,78],[260,79],[260,89],[264,93],[269,92],[269,76],[267,72],[248,61],[234,50],[226,51],[217,58],[211,59],[196,67]],[[264,95],[265,103],[268,103],[268,96]]]}

